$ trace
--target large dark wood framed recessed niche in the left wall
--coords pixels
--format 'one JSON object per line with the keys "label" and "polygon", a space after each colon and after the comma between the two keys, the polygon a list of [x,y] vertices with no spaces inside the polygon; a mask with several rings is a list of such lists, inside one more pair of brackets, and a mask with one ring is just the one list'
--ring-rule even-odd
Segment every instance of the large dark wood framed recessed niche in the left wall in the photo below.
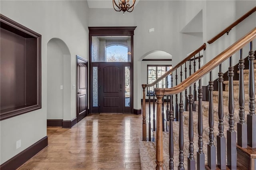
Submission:
{"label": "large dark wood framed recessed niche in the left wall", "polygon": [[0,120],[41,108],[41,35],[0,14]]}

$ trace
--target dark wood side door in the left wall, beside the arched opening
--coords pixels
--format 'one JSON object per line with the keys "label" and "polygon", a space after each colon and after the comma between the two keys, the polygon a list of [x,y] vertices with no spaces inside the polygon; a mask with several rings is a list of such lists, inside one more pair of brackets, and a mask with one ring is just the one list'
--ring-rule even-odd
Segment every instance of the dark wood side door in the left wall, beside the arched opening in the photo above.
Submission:
{"label": "dark wood side door in the left wall, beside the arched opening", "polygon": [[76,117],[80,121],[87,115],[88,95],[87,95],[87,71],[88,62],[81,58],[77,58],[77,100],[76,100]]}

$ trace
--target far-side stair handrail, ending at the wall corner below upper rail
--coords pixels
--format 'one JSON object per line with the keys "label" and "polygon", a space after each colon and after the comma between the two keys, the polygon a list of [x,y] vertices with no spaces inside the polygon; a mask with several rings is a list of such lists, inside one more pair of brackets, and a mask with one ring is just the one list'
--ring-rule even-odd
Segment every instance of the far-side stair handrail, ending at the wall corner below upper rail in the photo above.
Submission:
{"label": "far-side stair handrail, ending at the wall corner below upper rail", "polygon": [[[185,59],[183,59],[182,61],[180,61],[180,63],[178,63],[177,65],[175,65],[174,67],[172,67],[172,69],[168,70],[166,73],[164,73],[161,77],[159,77],[158,79],[156,79],[156,81],[154,81],[151,84],[147,84],[146,87],[152,87],[154,85],[156,85],[156,83],[158,83],[159,81],[161,81],[162,79],[166,78],[170,73],[172,73],[173,71],[175,71],[178,67],[180,67],[180,65],[184,64],[186,61],[189,61],[189,59],[191,57],[193,57],[194,55],[196,55],[198,52],[205,50],[206,49],[206,43],[204,43],[201,47],[199,47],[198,49],[196,49],[194,52],[192,52],[190,55],[188,55],[188,57],[186,57]],[[142,86],[145,84],[142,84]]]}

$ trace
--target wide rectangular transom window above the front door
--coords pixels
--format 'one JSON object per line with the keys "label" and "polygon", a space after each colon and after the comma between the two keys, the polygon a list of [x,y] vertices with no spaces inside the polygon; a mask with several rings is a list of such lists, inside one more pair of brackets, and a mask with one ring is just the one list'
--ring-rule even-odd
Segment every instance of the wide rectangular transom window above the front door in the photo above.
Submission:
{"label": "wide rectangular transom window above the front door", "polygon": [[131,62],[131,37],[92,36],[92,62]]}

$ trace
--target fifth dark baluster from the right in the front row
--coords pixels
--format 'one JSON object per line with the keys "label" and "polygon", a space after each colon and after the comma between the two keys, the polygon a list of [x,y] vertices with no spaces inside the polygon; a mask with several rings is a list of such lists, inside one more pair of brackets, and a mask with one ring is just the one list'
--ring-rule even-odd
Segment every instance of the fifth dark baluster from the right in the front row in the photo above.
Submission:
{"label": "fifth dark baluster from the right in the front row", "polygon": [[214,170],[216,168],[216,146],[214,145],[214,115],[213,115],[213,81],[212,81],[212,71],[210,71],[210,81],[209,81],[209,142],[207,145],[207,165],[210,169]]}

